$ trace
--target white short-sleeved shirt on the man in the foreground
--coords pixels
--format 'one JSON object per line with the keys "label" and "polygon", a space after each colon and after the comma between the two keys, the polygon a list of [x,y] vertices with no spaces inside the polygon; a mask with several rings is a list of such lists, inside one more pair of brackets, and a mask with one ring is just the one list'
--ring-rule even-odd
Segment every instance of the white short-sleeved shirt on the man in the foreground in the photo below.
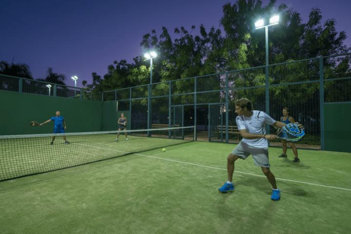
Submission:
{"label": "white short-sleeved shirt on the man in the foreground", "polygon": [[[246,129],[246,132],[251,134],[266,134],[266,124],[272,125],[273,123],[275,123],[275,120],[263,111],[253,111],[253,115],[250,117],[236,117],[236,124],[238,126],[238,130]],[[257,148],[268,147],[268,141],[265,138],[244,138],[241,141]]]}

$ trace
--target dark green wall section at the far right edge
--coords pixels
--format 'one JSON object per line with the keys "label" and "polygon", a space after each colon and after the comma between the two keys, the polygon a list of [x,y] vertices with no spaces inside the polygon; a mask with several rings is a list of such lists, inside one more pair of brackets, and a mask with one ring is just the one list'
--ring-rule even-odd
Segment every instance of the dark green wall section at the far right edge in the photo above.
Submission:
{"label": "dark green wall section at the far right edge", "polygon": [[351,103],[324,104],[325,150],[351,152]]}

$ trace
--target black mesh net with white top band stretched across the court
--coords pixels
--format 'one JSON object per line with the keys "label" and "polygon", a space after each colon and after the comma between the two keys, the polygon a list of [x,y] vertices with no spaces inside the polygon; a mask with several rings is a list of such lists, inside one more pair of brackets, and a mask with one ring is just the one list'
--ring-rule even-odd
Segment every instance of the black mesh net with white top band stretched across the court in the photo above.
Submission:
{"label": "black mesh net with white top band stretched across the court", "polygon": [[175,127],[0,136],[0,181],[187,143],[194,140],[194,133],[194,127]]}

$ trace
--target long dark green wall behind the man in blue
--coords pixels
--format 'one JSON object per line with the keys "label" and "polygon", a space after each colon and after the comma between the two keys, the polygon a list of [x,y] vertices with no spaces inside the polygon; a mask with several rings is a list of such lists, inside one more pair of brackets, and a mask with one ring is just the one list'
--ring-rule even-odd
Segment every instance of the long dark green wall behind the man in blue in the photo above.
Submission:
{"label": "long dark green wall behind the man in blue", "polygon": [[103,103],[99,101],[7,91],[0,91],[0,100],[0,135],[53,133],[53,121],[37,127],[30,122],[43,123],[56,111],[64,117],[66,133],[101,131]]}

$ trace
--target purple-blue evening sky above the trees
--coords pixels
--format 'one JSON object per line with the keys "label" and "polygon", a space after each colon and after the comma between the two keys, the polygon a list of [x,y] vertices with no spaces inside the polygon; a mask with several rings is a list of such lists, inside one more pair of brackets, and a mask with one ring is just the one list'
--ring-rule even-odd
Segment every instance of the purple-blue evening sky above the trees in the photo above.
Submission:
{"label": "purple-blue evening sky above the trees", "polygon": [[[267,5],[269,0],[263,0]],[[191,26],[199,34],[219,27],[222,6],[227,0],[0,0],[0,60],[26,63],[33,78],[45,78],[48,67],[66,75],[65,83],[74,86],[72,76],[92,82],[92,72],[103,77],[114,60],[142,56],[142,36],[165,26]],[[234,3],[235,1],[230,1]],[[277,0],[301,14],[307,22],[312,7],[322,12],[322,20],[334,18],[336,30],[345,31],[351,46],[351,4],[349,0]],[[222,32],[224,30],[220,28]],[[176,36],[171,34],[174,40]]]}

